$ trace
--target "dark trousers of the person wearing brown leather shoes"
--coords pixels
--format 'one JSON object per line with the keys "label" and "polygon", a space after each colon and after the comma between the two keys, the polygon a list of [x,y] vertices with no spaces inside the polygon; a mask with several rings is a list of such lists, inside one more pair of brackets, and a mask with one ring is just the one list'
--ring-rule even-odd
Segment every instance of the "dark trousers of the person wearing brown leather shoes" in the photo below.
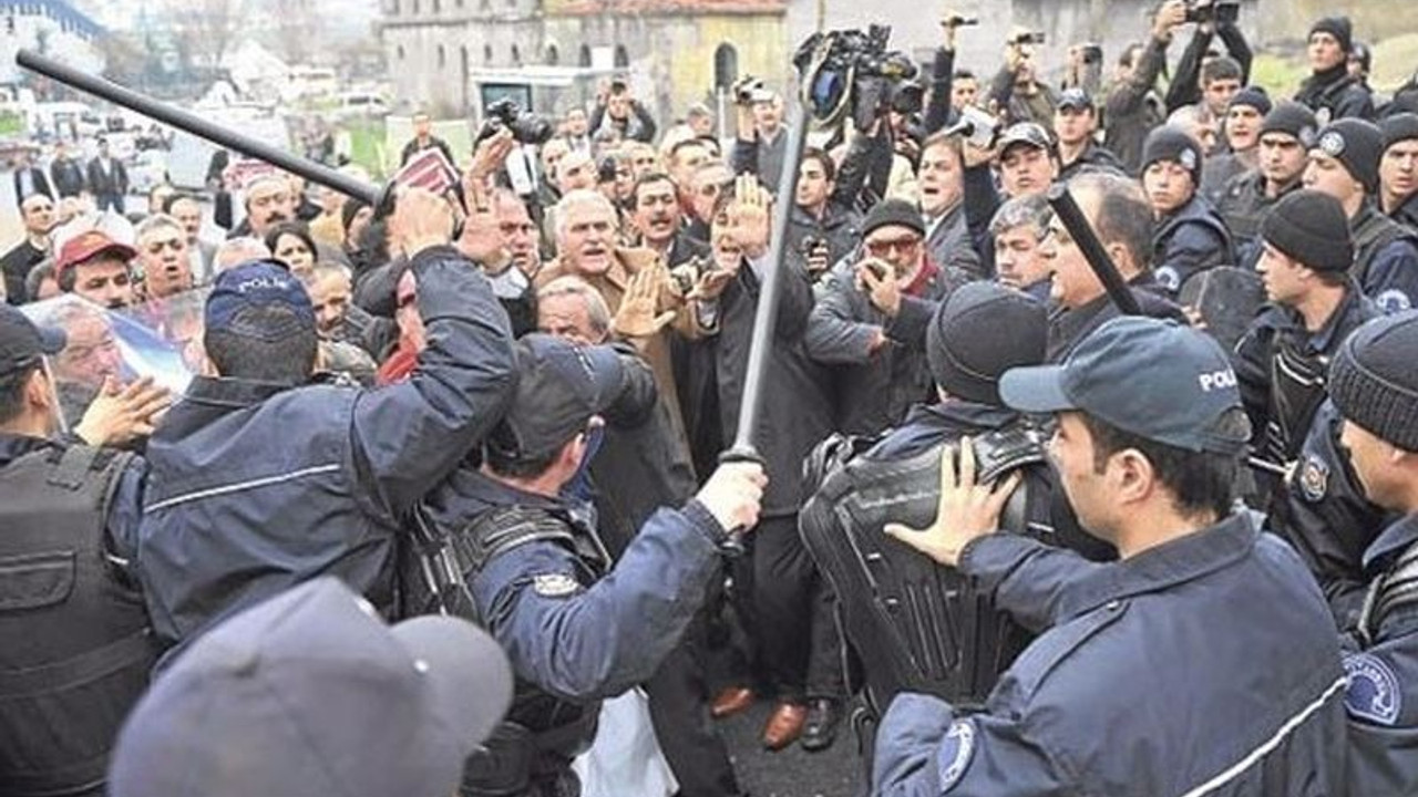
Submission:
{"label": "dark trousers of the person wearing brown leather shoes", "polygon": [[744,607],[780,699],[841,698],[842,640],[832,597],[797,530],[797,515],[763,518],[747,535],[753,586]]}

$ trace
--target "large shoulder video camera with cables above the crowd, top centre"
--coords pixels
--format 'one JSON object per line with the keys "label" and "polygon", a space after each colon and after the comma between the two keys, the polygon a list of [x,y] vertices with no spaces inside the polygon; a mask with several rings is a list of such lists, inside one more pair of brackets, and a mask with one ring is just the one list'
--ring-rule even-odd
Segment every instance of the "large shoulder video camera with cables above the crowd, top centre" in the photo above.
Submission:
{"label": "large shoulder video camera with cables above the crowd, top centre", "polygon": [[[793,64],[808,87],[813,116],[824,126],[851,115],[866,130],[896,96],[896,88],[916,77],[916,62],[899,50],[888,50],[891,26],[815,33],[803,43]],[[910,91],[900,105],[913,102]],[[899,109],[899,106],[898,106]]]}

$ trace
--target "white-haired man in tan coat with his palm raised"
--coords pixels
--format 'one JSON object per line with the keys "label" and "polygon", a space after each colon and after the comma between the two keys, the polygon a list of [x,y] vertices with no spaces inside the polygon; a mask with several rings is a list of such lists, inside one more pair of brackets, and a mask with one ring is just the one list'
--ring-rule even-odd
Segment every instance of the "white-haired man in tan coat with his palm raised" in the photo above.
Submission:
{"label": "white-haired man in tan coat with his palm raised", "polygon": [[655,383],[674,408],[675,428],[683,434],[669,357],[669,326],[698,336],[700,326],[683,295],[669,278],[665,261],[651,250],[615,245],[617,216],[610,200],[596,191],[570,191],[556,206],[556,260],[536,277],[537,288],[557,277],[574,275],[590,282],[614,313],[615,338],[637,345],[655,370]]}

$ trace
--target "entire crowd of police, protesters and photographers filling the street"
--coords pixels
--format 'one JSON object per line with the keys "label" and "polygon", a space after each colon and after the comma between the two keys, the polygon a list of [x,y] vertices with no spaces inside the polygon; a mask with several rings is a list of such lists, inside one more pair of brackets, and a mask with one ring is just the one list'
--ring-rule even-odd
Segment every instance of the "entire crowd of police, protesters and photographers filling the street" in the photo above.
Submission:
{"label": "entire crowd of police, protesters and photographers filling the street", "polygon": [[800,159],[611,81],[391,208],[227,163],[220,235],[17,173],[0,791],[571,797],[642,686],[686,797],[759,699],[873,794],[1414,793],[1418,88],[1194,11],[1062,85],[947,17]]}

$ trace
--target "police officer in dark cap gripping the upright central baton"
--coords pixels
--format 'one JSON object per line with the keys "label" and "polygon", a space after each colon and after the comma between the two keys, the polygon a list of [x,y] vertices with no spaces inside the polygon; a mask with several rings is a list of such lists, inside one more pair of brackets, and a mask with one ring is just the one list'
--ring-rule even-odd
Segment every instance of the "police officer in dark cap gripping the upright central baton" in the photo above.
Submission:
{"label": "police officer in dark cap gripping the upright central baton", "polygon": [[720,574],[727,532],[757,522],[763,468],[723,465],[683,508],[652,515],[610,567],[566,488],[627,390],[623,367],[608,347],[525,336],[484,464],[458,469],[425,506],[518,678],[508,720],[469,759],[465,796],[577,794],[570,762],[594,736],[598,701],[655,674]]}

